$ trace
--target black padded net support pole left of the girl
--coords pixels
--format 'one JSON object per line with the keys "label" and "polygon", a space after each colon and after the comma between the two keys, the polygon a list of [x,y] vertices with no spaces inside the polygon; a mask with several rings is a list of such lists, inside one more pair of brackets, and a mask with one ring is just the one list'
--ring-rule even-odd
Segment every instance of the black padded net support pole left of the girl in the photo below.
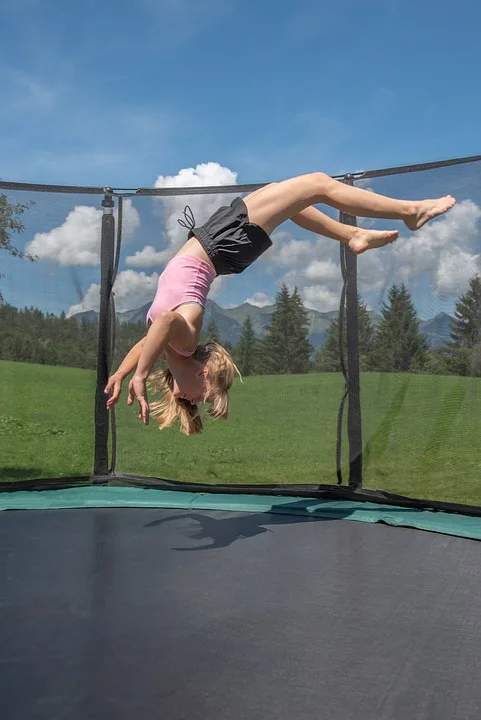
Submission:
{"label": "black padded net support pole left of the girl", "polygon": [[114,199],[111,190],[102,200],[102,233],[100,244],[100,311],[97,353],[97,389],[95,393],[95,459],[94,476],[109,473],[109,414],[105,386],[110,372],[112,333],[112,285],[115,258]]}

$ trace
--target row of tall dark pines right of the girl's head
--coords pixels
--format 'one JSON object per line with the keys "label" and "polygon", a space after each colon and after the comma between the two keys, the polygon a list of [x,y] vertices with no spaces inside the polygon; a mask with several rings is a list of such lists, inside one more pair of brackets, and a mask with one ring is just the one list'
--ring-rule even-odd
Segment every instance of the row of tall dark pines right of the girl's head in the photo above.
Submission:
{"label": "row of tall dark pines right of the girl's head", "polygon": [[[343,320],[341,341],[345,352],[345,312]],[[390,288],[377,325],[358,297],[358,333],[362,371],[481,376],[481,278],[473,276],[469,289],[459,297],[451,320],[451,337],[441,347],[430,347],[420,332],[419,318],[404,284]],[[297,290],[289,296],[284,286],[276,297],[266,336],[257,338],[247,318],[233,355],[244,375],[340,372],[339,334],[337,319],[322,347],[312,354],[306,311]]]}

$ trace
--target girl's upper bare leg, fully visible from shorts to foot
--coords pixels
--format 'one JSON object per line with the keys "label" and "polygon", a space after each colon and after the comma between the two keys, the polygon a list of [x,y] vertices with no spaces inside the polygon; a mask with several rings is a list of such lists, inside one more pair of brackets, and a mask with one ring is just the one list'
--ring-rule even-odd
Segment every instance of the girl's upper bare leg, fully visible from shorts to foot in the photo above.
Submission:
{"label": "girl's upper bare leg, fully visible from shorts to foot", "polygon": [[326,203],[349,215],[403,220],[410,230],[418,230],[456,202],[450,195],[435,200],[396,200],[346,185],[324,173],[272,183],[244,201],[250,221],[261,225],[268,234],[317,203]]}

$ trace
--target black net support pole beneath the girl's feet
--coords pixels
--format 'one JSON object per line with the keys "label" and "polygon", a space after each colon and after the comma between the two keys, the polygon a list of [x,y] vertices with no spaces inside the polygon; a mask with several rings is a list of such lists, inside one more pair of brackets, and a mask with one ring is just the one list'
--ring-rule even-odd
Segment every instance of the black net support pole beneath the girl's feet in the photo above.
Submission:
{"label": "black net support pole beneath the girl's feet", "polygon": [[[346,175],[344,182],[354,184],[352,175]],[[353,215],[341,213],[341,222],[357,226]],[[346,336],[347,375],[349,405],[347,431],[349,437],[349,488],[357,490],[362,486],[362,427],[361,427],[361,385],[359,358],[359,313],[357,290],[357,255],[345,248],[346,263]]]}

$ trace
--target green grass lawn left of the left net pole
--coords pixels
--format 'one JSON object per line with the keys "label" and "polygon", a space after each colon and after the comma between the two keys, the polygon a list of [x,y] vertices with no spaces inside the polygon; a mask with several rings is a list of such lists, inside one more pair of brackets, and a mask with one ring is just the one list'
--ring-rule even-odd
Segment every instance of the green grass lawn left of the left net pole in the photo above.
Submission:
{"label": "green grass lawn left of the left net pole", "polygon": [[0,480],[90,475],[95,374],[0,362]]}

